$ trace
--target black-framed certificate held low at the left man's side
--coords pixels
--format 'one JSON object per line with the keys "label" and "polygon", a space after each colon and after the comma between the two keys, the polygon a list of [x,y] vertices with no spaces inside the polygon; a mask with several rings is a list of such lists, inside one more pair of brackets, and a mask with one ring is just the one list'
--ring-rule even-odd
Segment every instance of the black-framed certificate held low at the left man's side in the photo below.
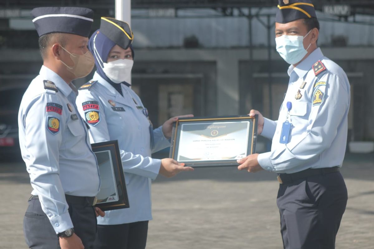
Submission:
{"label": "black-framed certificate held low at the left man's side", "polygon": [[117,140],[91,144],[98,162],[101,187],[96,207],[102,211],[129,208],[125,175]]}

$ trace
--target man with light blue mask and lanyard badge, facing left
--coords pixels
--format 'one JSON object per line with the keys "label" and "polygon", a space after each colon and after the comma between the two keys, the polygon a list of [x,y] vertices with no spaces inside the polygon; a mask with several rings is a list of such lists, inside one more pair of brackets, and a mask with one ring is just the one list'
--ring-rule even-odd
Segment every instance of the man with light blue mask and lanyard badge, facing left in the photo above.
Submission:
{"label": "man with light blue mask and lanyard badge, facing left", "polygon": [[319,23],[309,0],[279,0],[276,49],[291,64],[278,121],[259,115],[270,152],[238,160],[240,170],[278,173],[277,204],[286,249],[333,249],[347,203],[339,172],[347,142],[347,75],[317,47]]}

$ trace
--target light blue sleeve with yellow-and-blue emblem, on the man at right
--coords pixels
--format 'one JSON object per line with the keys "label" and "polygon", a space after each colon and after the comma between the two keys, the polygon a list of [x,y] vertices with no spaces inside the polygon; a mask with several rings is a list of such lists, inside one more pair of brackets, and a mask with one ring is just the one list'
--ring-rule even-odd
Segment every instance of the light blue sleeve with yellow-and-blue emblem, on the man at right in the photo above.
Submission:
{"label": "light blue sleeve with yellow-and-blue emblem, on the man at right", "polygon": [[346,77],[331,73],[323,75],[320,81],[327,84],[313,92],[322,92],[322,103],[311,106],[306,130],[295,138],[291,137],[288,144],[279,144],[275,150],[258,155],[262,168],[270,171],[296,168],[318,160],[318,156],[331,146],[349,109],[349,83]]}

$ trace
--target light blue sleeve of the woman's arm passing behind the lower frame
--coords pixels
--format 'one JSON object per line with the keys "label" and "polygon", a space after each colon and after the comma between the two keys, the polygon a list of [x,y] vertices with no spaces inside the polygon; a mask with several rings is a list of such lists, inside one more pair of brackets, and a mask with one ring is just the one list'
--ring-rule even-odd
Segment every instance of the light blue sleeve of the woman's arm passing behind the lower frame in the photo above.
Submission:
{"label": "light blue sleeve of the woman's arm passing behind the lower frame", "polygon": [[[101,99],[99,98],[99,96],[96,96],[95,93],[92,93],[92,91],[88,90],[80,91],[76,103],[79,113],[83,119],[85,119],[85,112],[82,108],[82,102],[86,101],[97,101],[99,102],[99,106],[101,106],[101,108],[104,107]],[[104,111],[100,111],[100,122],[95,126],[90,125],[89,128],[91,143],[99,143],[111,140],[106,122],[106,113]],[[160,139],[158,138],[158,140]],[[152,180],[156,179],[157,175],[159,174],[161,166],[161,160],[159,159],[153,159],[148,156],[135,155],[122,149],[120,149],[120,155],[124,172],[141,175],[143,177],[151,178]]]}

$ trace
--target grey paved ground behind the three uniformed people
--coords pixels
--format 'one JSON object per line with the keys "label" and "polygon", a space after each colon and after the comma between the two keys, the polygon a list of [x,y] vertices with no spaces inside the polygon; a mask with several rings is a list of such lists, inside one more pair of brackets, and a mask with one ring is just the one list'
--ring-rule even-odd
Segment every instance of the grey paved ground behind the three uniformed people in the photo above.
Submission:
{"label": "grey paved ground behind the three uniformed people", "polygon": [[[337,249],[374,242],[374,154],[347,155],[341,172],[348,204]],[[22,219],[31,186],[24,164],[0,163],[0,248],[27,248]],[[234,168],[195,169],[153,183],[151,249],[281,249],[275,174]]]}

